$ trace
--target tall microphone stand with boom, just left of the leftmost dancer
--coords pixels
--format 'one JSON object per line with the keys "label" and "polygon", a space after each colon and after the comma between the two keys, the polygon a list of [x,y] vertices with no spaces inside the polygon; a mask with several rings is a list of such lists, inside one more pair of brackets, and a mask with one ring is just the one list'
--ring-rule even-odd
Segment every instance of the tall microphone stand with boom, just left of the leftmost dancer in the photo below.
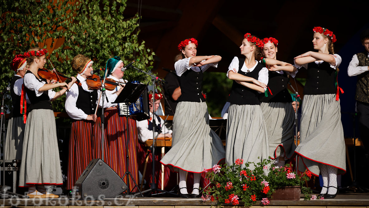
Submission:
{"label": "tall microphone stand with boom, just left of the leftmost dancer", "polygon": [[134,66],[131,66],[132,68],[134,68],[134,69],[136,69],[138,72],[143,72],[143,73],[145,73],[145,74],[147,74],[148,76],[150,76],[150,77],[152,77],[152,89],[153,89],[153,93],[154,93],[154,95],[152,96],[152,100],[153,100],[153,112],[152,112],[152,114],[153,114],[153,118],[152,118],[152,151],[151,151],[151,154],[152,154],[152,179],[151,179],[151,186],[150,186],[150,188],[149,189],[147,189],[147,190],[145,190],[145,191],[142,191],[142,193],[145,193],[145,192],[150,192],[150,194],[151,195],[154,195],[154,194],[152,194],[153,192],[165,192],[165,193],[168,193],[168,194],[173,194],[173,195],[176,195],[176,196],[178,196],[178,194],[175,194],[175,193],[172,193],[172,192],[169,192],[169,191],[164,191],[164,190],[162,190],[162,189],[158,189],[157,188],[157,186],[156,186],[156,183],[155,183],[155,148],[156,148],[156,138],[158,137],[158,135],[157,136],[155,136],[155,130],[156,130],[156,121],[155,121],[155,83],[156,83],[156,80],[159,80],[159,81],[163,81],[163,82],[165,82],[164,80],[162,80],[161,78],[159,78],[159,77],[156,77],[155,75],[153,75],[153,74],[150,74],[150,73],[147,73],[146,71],[142,71],[141,69],[139,69],[139,68],[136,68],[136,67],[134,67]]}

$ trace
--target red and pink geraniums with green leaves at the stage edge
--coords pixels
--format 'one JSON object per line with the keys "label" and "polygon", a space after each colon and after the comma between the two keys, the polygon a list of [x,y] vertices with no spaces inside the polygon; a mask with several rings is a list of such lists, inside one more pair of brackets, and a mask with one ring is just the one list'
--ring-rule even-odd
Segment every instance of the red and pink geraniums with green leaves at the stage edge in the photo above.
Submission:
{"label": "red and pink geraniums with green leaves at the stage edge", "polygon": [[[243,202],[246,207],[260,200],[263,205],[270,203],[270,198],[279,187],[302,186],[309,174],[296,177],[292,174],[289,165],[286,169],[270,165],[271,160],[263,160],[255,164],[237,159],[232,165],[214,165],[213,170],[207,173],[211,186],[204,190],[204,201],[218,201],[218,205],[237,205]],[[286,174],[285,180],[282,175]],[[287,178],[288,174],[288,178]],[[289,181],[290,180],[290,181]],[[294,182],[292,182],[294,181]],[[283,185],[283,183],[285,183]],[[306,198],[310,199],[310,198]]]}

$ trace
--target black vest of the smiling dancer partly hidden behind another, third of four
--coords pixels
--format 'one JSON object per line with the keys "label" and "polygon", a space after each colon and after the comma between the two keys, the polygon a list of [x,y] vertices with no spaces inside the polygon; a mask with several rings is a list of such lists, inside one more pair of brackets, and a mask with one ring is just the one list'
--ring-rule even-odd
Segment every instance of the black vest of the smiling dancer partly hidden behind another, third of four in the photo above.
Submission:
{"label": "black vest of the smiling dancer partly hidden behind another, third of four", "polygon": [[281,102],[281,103],[292,103],[292,98],[287,90],[288,76],[284,71],[283,74],[279,74],[276,71],[268,71],[268,97],[265,97],[265,93],[259,94],[259,100],[263,103]]}

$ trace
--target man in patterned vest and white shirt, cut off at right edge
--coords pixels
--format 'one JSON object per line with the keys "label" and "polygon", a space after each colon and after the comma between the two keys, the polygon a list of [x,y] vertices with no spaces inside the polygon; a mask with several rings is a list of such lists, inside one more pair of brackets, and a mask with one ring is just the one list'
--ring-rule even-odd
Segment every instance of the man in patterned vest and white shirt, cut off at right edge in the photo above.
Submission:
{"label": "man in patterned vest and white shirt, cut off at right edge", "polygon": [[360,137],[369,156],[369,28],[360,35],[365,51],[352,57],[348,66],[348,76],[358,76],[356,83],[356,111],[359,118]]}

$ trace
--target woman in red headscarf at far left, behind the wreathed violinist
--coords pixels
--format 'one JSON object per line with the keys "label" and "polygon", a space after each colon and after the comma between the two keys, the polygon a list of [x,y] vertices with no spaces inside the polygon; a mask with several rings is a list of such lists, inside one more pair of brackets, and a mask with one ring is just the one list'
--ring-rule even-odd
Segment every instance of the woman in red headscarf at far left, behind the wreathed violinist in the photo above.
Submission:
{"label": "woman in red headscarf at far left, behind the wreathed violinist", "polygon": [[16,55],[11,61],[10,67],[15,71],[13,80],[10,83],[10,97],[13,108],[10,110],[8,128],[5,140],[5,160],[21,160],[25,120],[22,111],[29,107],[24,102],[26,96],[22,94],[23,77],[27,70],[27,57],[23,54]]}

